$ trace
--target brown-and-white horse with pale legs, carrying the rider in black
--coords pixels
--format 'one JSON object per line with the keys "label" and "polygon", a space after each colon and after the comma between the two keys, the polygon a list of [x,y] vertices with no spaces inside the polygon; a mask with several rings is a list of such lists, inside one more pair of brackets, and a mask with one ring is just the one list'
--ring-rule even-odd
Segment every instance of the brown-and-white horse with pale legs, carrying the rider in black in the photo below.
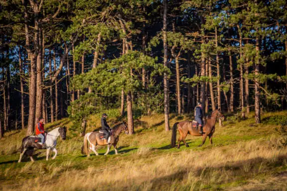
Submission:
{"label": "brown-and-white horse with pale legs, carrying the rider in black", "polygon": [[[119,136],[122,131],[125,131],[126,134],[129,134],[128,125],[126,122],[120,123],[112,128],[112,135],[108,140],[100,139],[100,132],[94,131],[87,133],[84,138],[84,143],[82,146],[82,154],[86,154],[87,157],[90,157],[90,150],[94,151],[94,153],[98,156],[98,152],[96,151],[97,145],[108,145],[108,150],[105,153],[107,155],[110,152],[111,146],[113,145],[115,148],[116,155],[118,154],[117,143],[119,141]],[[88,149],[88,142],[90,144],[90,149]]]}

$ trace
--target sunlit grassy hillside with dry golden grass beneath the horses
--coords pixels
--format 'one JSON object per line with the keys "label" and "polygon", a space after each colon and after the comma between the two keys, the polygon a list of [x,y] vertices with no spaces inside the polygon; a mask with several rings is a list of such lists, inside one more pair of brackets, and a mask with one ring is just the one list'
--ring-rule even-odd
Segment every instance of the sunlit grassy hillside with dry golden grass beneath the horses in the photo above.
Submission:
{"label": "sunlit grassy hillside with dry golden grass beneath the horses", "polygon": [[[188,116],[171,116],[171,126]],[[111,119],[113,124],[115,120]],[[119,155],[99,147],[100,156],[80,152],[83,137],[68,130],[58,141],[59,154],[45,161],[45,151],[36,152],[36,162],[17,163],[25,132],[12,131],[0,140],[0,190],[286,190],[287,138],[280,122],[287,111],[265,113],[263,123],[227,117],[216,125],[211,146],[202,147],[201,137],[187,136],[189,148],[170,148],[171,132],[164,132],[164,116],[144,116],[135,121],[136,134],[122,134]],[[46,128],[72,124],[68,119]],[[100,127],[92,117],[87,132]],[[35,157],[36,158],[36,157]]]}

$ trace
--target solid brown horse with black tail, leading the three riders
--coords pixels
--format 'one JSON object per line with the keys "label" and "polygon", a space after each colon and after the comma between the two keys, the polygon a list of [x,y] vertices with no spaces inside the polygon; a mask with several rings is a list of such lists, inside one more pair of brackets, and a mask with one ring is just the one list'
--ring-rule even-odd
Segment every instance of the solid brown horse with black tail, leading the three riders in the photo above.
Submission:
{"label": "solid brown horse with black tail, leading the three riders", "polygon": [[202,146],[207,138],[209,137],[210,144],[212,144],[212,135],[215,131],[215,123],[216,118],[224,117],[219,110],[214,110],[211,113],[211,117],[208,118],[203,125],[203,135],[199,133],[198,129],[192,127],[191,121],[181,121],[174,123],[172,127],[172,135],[171,135],[171,147],[175,147],[176,142],[176,129],[178,129],[180,137],[178,138],[177,148],[179,149],[180,141],[183,141],[186,147],[189,147],[185,142],[185,138],[187,134],[193,136],[202,136],[202,143],[199,145]]}

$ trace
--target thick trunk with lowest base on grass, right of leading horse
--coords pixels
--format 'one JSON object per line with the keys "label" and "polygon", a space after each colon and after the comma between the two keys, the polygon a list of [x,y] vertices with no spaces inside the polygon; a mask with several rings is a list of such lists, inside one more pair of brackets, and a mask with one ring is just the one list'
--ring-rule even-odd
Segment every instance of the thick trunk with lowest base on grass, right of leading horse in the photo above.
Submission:
{"label": "thick trunk with lowest base on grass, right of leading horse", "polygon": [[261,123],[260,117],[260,92],[259,92],[259,78],[260,74],[259,65],[260,65],[260,48],[259,48],[259,37],[256,36],[256,60],[255,60],[255,123]]}

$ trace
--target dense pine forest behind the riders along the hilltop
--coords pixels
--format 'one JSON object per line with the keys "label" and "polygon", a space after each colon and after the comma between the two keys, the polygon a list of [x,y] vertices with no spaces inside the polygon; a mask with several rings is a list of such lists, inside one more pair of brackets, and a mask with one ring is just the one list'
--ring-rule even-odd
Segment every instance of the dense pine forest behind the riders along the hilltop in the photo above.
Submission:
{"label": "dense pine forest behind the riders along the hilltop", "polygon": [[0,138],[64,117],[287,108],[286,0],[1,0]]}

